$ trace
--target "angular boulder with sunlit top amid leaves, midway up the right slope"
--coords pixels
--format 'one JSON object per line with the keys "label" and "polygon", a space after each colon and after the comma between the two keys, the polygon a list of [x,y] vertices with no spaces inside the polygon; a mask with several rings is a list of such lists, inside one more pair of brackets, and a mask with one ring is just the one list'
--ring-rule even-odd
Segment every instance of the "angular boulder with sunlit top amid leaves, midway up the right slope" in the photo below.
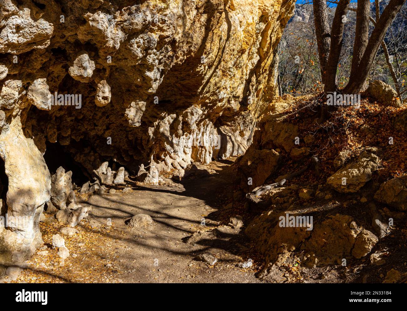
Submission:
{"label": "angular boulder with sunlit top amid leaves, midway up the right slope", "polygon": [[359,157],[328,177],[327,184],[337,192],[354,193],[362,188],[370,179],[372,173],[381,164],[379,157],[368,151],[363,151]]}

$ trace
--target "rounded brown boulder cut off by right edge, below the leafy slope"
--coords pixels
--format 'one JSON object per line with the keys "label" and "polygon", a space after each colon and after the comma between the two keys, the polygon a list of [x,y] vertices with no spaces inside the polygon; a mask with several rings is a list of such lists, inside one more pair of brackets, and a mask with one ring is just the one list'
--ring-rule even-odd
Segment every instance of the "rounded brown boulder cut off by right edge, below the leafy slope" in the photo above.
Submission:
{"label": "rounded brown boulder cut off by right edge, below the leafy slope", "polygon": [[407,210],[407,179],[394,178],[381,184],[374,194],[374,199],[395,207],[400,211]]}

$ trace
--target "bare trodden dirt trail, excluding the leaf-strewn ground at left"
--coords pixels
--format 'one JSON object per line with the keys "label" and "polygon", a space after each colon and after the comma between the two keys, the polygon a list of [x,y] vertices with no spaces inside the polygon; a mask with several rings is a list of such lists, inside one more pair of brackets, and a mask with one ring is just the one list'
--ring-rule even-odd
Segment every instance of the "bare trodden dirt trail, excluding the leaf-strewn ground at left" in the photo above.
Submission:
{"label": "bare trodden dirt trail, excluding the leaf-strewn ground at left", "polygon": [[[237,232],[221,227],[225,234],[215,240],[195,245],[184,242],[194,232],[221,226],[207,215],[225,206],[223,194],[232,191],[232,174],[228,164],[214,162],[209,168],[216,173],[169,186],[133,186],[131,193],[93,196],[88,201],[94,206],[94,218],[102,222],[111,218],[125,233],[117,237],[122,246],[115,250],[119,256],[115,266],[131,271],[121,276],[124,282],[258,282],[253,270],[236,267],[248,259],[239,256],[239,248],[245,246],[236,246],[243,238]],[[125,220],[139,213],[150,215],[155,224],[142,229],[125,227]],[[201,226],[203,218],[206,227]],[[218,258],[213,268],[193,260],[204,251]]]}

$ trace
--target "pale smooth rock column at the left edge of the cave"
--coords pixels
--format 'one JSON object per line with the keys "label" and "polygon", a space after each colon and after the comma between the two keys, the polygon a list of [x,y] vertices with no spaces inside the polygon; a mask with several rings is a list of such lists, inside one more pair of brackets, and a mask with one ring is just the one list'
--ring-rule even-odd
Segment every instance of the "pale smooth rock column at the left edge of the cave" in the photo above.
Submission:
{"label": "pale smooth rock column at the left edge of the cave", "polygon": [[0,129],[0,157],[9,179],[7,228],[0,228],[0,263],[19,262],[42,244],[39,218],[50,199],[51,176],[33,139],[24,136],[20,117]]}

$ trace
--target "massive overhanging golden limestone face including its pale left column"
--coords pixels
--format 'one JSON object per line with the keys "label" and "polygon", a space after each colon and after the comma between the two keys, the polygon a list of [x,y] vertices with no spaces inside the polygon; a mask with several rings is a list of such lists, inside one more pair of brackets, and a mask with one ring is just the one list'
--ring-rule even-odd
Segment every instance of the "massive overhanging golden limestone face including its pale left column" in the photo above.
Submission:
{"label": "massive overhanging golden limestone face including its pale left column", "polygon": [[[105,161],[162,172],[244,153],[276,95],[276,50],[293,8],[293,0],[2,1],[6,210],[33,218],[49,200],[47,142],[89,174]],[[27,197],[16,202],[15,187]],[[30,246],[37,227],[0,233],[0,258],[4,237]]]}

